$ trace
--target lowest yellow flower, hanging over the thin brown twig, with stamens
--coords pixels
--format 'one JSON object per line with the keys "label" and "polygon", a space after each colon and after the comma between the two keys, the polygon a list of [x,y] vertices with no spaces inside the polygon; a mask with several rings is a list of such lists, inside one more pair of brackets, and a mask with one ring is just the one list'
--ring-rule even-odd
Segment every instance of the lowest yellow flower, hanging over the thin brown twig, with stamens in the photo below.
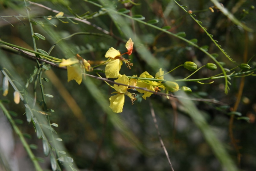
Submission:
{"label": "lowest yellow flower, hanging over the thin brown twig, with stamens", "polygon": [[117,94],[109,98],[109,101],[110,101],[109,107],[112,109],[113,112],[121,113],[123,112],[125,95],[131,98],[132,103],[136,100],[136,98],[134,93],[130,93],[127,91],[128,86],[126,85],[129,85],[130,80],[126,75],[119,74],[119,77],[117,80],[115,80],[115,82],[125,84],[125,85],[117,85],[117,84],[114,85],[114,89],[116,91],[113,93],[117,93]]}

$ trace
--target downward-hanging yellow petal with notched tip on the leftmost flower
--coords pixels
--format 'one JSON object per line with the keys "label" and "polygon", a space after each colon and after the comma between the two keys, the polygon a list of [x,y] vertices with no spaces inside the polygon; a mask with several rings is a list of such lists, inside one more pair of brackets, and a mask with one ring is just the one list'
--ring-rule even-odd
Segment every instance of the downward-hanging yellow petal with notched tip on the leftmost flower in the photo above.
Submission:
{"label": "downward-hanging yellow petal with notched tip on the leftmost flower", "polygon": [[82,71],[78,65],[67,66],[68,70],[68,82],[71,80],[76,80],[78,84],[82,82]]}

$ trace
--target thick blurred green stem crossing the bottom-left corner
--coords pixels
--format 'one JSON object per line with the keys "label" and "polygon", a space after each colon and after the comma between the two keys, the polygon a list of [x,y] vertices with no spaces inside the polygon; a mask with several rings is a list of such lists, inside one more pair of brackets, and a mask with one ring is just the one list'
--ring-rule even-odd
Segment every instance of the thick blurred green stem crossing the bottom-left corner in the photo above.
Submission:
{"label": "thick blurred green stem crossing the bottom-left corner", "polygon": [[2,108],[3,113],[5,114],[7,119],[9,120],[10,124],[12,125],[15,133],[19,136],[22,145],[24,146],[25,150],[27,151],[28,156],[30,157],[30,159],[34,163],[35,169],[37,171],[43,171],[43,169],[40,167],[36,157],[34,156],[33,152],[31,151],[29,145],[27,144],[27,141],[25,140],[23,134],[21,133],[20,129],[15,124],[15,121],[12,119],[11,115],[9,114],[8,110],[4,107],[3,103],[1,102],[1,100],[0,100],[0,107]]}

